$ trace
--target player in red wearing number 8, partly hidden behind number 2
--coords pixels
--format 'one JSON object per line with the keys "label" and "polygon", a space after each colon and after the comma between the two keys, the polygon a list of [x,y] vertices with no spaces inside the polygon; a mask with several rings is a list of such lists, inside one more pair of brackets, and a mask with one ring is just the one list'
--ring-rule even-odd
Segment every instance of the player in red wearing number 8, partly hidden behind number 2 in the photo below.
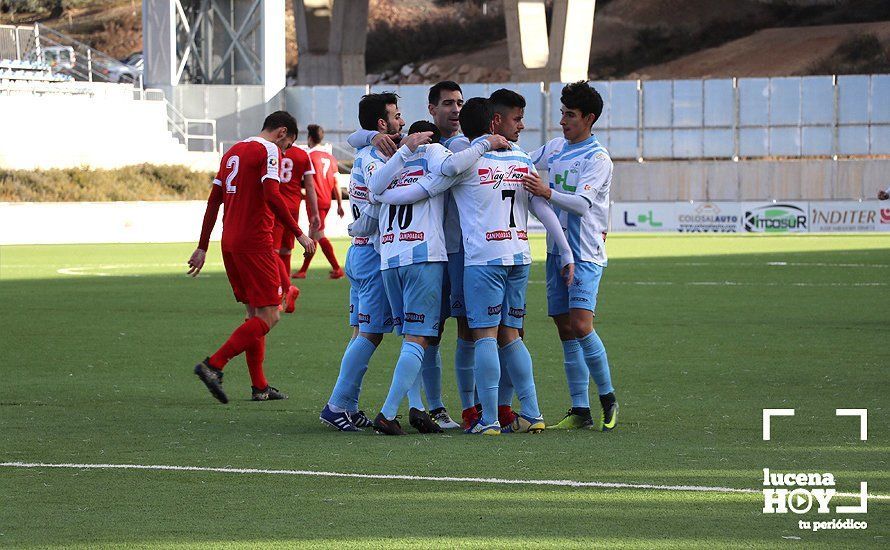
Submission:
{"label": "player in red wearing number 8, partly hidden behind number 2", "polygon": [[[302,189],[306,189],[306,213],[309,216],[309,233],[318,227],[318,202],[312,176],[315,170],[309,160],[309,153],[299,147],[288,147],[281,157],[281,196],[295,220],[300,219],[300,202]],[[299,289],[290,284],[291,252],[294,248],[294,234],[289,231],[281,220],[275,221],[272,232],[272,243],[281,258],[281,287],[287,289],[285,313],[294,312],[294,301],[300,295]]]}

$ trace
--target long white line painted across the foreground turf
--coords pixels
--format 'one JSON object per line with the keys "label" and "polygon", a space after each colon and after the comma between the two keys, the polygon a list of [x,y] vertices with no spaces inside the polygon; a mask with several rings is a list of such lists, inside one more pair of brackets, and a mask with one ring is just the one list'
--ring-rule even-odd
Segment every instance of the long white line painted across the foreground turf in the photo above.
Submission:
{"label": "long white line painted across the foreground turf", "polygon": [[[492,485],[539,485],[558,487],[596,487],[601,489],[647,489],[653,491],[692,491],[700,493],[760,494],[758,489],[706,487],[700,485],[654,485],[648,483],[613,483],[605,481],[572,481],[568,479],[501,479],[486,477],[410,476],[399,474],[349,474],[316,470],[268,470],[261,468],[210,468],[206,466],[170,466],[159,464],[75,464],[45,462],[0,462],[3,468],[65,468],[72,470],[157,470],[174,472],[212,472],[221,474],[260,474],[310,477],[345,477],[402,481],[438,481],[452,483],[487,483]],[[856,497],[858,493],[836,493],[842,497]],[[868,495],[869,499],[890,500],[890,495]]]}

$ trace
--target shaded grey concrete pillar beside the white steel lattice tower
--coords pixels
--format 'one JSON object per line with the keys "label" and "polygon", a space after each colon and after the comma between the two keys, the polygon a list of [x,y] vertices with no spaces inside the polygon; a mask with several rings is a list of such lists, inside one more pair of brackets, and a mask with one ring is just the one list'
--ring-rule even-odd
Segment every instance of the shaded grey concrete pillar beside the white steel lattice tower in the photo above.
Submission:
{"label": "shaded grey concrete pillar beside the white steel lattice tower", "polygon": [[294,0],[301,86],[365,84],[368,0]]}

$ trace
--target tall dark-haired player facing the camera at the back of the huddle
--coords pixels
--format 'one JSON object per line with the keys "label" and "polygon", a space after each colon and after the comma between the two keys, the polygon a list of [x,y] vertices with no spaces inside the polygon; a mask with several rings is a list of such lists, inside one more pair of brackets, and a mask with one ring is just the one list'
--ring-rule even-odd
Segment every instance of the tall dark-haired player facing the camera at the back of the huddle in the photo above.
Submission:
{"label": "tall dark-haired player facing the camera at the back of the huddle", "polygon": [[[460,110],[463,106],[463,92],[453,81],[445,80],[433,85],[429,90],[428,109],[433,123],[439,129],[439,143],[454,153],[469,147],[469,140],[460,132]],[[358,130],[349,136],[347,142],[361,148],[375,145],[386,156],[396,151],[393,138],[382,132]],[[464,250],[460,232],[460,218],[457,205],[451,193],[445,199],[445,247],[448,252],[448,272],[443,293],[443,323],[450,314],[457,321],[457,345],[454,353],[454,371],[457,389],[460,395],[464,427],[469,427],[478,417],[475,407],[473,379],[473,338],[467,324],[466,301],[463,293]],[[427,346],[424,352],[423,387],[430,407],[430,416],[444,429],[457,428],[459,425],[451,419],[442,402],[442,359],[439,355],[438,342]]]}

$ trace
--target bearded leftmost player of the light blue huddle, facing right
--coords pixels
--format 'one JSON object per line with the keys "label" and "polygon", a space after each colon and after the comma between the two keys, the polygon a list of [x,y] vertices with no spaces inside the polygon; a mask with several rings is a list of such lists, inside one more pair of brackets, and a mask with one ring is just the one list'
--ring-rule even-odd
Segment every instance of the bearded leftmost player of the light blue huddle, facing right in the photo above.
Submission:
{"label": "bearded leftmost player of the light blue huddle, facing right", "polygon": [[[397,134],[405,125],[393,93],[368,94],[359,102],[359,123],[362,128],[385,134]],[[368,189],[368,180],[385,164],[384,157],[373,146],[358,151],[349,176],[349,202],[353,219],[364,210],[376,210]],[[375,216],[376,217],[376,216]],[[346,276],[349,278],[349,324],[353,336],[340,362],[340,374],[334,390],[319,416],[320,420],[340,431],[354,432],[372,422],[358,409],[362,379],[371,356],[392,332],[393,321],[380,274],[380,240],[376,234],[355,237],[346,254]]]}

